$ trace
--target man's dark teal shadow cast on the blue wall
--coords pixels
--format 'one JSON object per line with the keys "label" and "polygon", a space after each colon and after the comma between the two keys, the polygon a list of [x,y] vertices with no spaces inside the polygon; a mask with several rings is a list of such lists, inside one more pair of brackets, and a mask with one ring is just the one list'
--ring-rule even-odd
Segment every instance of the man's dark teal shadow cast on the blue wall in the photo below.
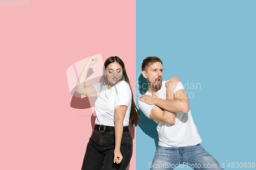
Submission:
{"label": "man's dark teal shadow cast on the blue wall", "polygon": [[[142,74],[139,76],[139,92],[141,95],[145,94],[148,90],[148,85],[146,79],[142,76]],[[146,117],[141,110],[140,111],[140,129],[148,136],[153,138],[155,140],[156,148],[158,146],[158,134],[157,134],[157,124],[154,122],[154,120],[149,119]]]}

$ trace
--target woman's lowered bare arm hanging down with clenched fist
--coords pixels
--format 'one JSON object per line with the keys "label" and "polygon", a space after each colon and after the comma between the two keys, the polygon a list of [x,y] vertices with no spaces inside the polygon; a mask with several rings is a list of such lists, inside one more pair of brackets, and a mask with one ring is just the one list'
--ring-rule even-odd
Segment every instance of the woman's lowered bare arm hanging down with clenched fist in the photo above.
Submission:
{"label": "woman's lowered bare arm hanging down with clenched fist", "polygon": [[123,159],[120,152],[121,140],[123,135],[123,119],[126,113],[127,106],[115,107],[115,151],[114,151],[114,163],[120,163]]}

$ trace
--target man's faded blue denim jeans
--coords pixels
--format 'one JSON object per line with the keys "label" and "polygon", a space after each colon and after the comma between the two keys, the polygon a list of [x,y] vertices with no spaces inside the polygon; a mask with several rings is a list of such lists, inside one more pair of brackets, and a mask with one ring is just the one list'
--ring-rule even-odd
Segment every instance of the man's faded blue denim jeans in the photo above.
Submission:
{"label": "man's faded blue denim jeans", "polygon": [[158,146],[152,164],[148,164],[151,170],[171,170],[176,166],[188,165],[193,169],[223,169],[220,163],[203,149],[200,144],[191,147],[162,147]]}

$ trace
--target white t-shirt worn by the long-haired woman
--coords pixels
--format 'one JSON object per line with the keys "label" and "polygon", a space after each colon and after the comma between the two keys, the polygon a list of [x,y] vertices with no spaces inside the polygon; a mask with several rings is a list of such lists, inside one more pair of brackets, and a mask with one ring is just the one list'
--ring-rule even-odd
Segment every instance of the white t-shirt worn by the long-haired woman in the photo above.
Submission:
{"label": "white t-shirt worn by the long-haired woman", "polygon": [[101,83],[94,84],[93,87],[98,93],[98,99],[95,102],[96,119],[95,124],[105,126],[115,126],[115,107],[127,106],[123,119],[123,126],[129,126],[130,112],[132,106],[132,92],[129,84],[125,81],[118,82],[109,90],[108,85]]}

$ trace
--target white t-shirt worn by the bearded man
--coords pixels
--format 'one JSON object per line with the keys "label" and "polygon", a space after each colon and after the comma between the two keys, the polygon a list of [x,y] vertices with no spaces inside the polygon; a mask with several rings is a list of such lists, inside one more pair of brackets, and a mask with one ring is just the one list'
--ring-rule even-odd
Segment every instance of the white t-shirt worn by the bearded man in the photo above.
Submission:
{"label": "white t-shirt worn by the bearded man", "polygon": [[[166,100],[165,82],[162,81],[162,87],[156,93],[159,99]],[[184,89],[181,82],[179,82],[174,89],[174,93],[180,89]],[[147,95],[152,95],[146,92]],[[150,113],[155,105],[148,105],[138,100],[140,110],[150,118]],[[189,147],[196,145],[202,141],[198,134],[196,125],[189,110],[187,113],[176,113],[175,125],[165,124],[155,121],[158,132],[158,145],[163,147]]]}

